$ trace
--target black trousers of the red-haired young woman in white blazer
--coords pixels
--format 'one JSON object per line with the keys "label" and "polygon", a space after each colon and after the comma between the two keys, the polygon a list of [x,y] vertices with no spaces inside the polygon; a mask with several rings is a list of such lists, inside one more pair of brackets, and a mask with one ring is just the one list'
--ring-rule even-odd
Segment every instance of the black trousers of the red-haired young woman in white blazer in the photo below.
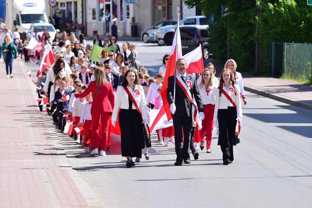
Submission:
{"label": "black trousers of the red-haired young woman in white blazer", "polygon": [[218,109],[219,138],[218,145],[223,153],[223,160],[234,160],[233,145],[236,145],[236,108]]}

